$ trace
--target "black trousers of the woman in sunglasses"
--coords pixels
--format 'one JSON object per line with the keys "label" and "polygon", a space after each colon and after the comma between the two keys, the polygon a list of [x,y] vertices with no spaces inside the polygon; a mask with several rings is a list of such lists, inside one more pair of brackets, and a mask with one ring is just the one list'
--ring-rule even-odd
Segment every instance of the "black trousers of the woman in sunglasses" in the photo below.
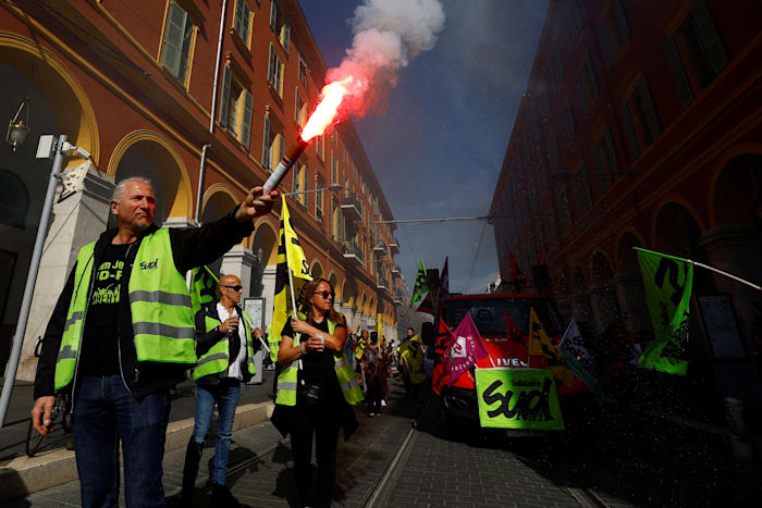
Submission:
{"label": "black trousers of the woman in sunglasses", "polygon": [[[341,393],[340,393],[341,396]],[[312,490],[312,436],[318,460],[317,497],[310,499]],[[294,455],[294,476],[299,495],[299,506],[330,506],[336,485],[336,447],[339,421],[334,401],[309,406],[297,396],[291,429],[291,448]]]}

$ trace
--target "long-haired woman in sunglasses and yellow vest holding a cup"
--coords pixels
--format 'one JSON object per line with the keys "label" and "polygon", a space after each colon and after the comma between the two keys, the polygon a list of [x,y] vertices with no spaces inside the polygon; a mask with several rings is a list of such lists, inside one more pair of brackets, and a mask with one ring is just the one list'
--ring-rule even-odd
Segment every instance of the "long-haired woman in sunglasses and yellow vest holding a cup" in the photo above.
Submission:
{"label": "long-haired woman in sunglasses and yellow vest holding a cup", "polygon": [[[351,405],[362,400],[344,355],[347,330],[333,309],[334,290],[319,278],[305,286],[300,312],[283,326],[278,363],[278,395],[270,421],[283,436],[291,432],[294,475],[300,506],[330,506],[336,481],[339,430],[357,429]],[[318,461],[317,497],[311,498],[312,435]]]}

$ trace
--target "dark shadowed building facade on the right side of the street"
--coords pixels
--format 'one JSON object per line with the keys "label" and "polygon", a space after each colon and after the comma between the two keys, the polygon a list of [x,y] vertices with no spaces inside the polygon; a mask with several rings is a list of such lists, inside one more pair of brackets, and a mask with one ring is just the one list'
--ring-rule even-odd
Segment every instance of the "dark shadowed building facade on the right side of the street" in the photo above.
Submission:
{"label": "dark shadowed building facade on the right side of the street", "polygon": [[[754,0],[551,1],[491,206],[504,281],[509,252],[525,273],[543,256],[566,318],[642,342],[632,247],[762,282],[760,16]],[[708,332],[713,295],[737,333]],[[762,295],[697,268],[693,296],[689,372],[759,409]]]}

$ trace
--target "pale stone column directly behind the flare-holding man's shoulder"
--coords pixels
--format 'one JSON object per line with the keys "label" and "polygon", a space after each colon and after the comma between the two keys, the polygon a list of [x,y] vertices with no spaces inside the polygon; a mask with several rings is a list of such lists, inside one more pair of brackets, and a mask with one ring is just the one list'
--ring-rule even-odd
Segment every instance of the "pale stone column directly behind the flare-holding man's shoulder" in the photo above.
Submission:
{"label": "pale stone column directly behind the flare-holding man's shoulder", "polygon": [[37,337],[45,334],[79,249],[98,239],[106,231],[113,189],[113,177],[90,168],[82,190],[61,202],[53,202],[50,228],[42,249],[24,335],[17,380],[34,381],[37,370],[37,359],[34,357]]}

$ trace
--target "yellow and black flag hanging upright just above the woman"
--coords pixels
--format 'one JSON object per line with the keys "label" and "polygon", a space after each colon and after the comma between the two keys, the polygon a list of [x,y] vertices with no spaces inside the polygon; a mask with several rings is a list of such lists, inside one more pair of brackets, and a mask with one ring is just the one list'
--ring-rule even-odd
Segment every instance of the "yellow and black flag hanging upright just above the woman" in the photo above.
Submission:
{"label": "yellow and black flag hanging upright just above the woman", "polygon": [[283,197],[281,227],[278,234],[278,265],[275,268],[275,294],[272,299],[272,326],[268,335],[270,358],[272,361],[278,360],[278,350],[281,345],[281,332],[288,321],[288,318],[294,312],[291,302],[288,269],[291,269],[294,274],[292,280],[294,284],[296,309],[298,310],[304,297],[304,286],[308,281],[311,281],[312,277],[309,274],[309,264],[299,245],[299,239],[291,225],[288,207],[286,206],[285,197]]}

